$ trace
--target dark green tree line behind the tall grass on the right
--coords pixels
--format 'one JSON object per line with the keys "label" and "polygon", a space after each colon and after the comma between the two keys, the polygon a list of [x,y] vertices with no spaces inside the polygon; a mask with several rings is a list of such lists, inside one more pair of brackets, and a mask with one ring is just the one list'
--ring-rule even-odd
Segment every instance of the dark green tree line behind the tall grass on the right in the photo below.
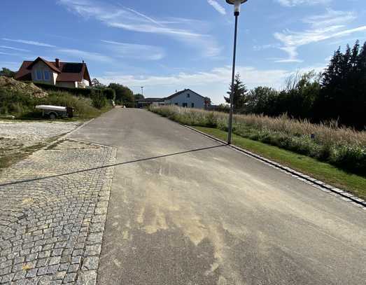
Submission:
{"label": "dark green tree line behind the tall grass on the right", "polygon": [[[366,42],[356,41],[353,48],[339,47],[323,73],[310,71],[294,74],[286,80],[283,90],[259,86],[248,90],[235,77],[228,95],[234,88],[234,111],[309,119],[313,123],[337,120],[363,130],[366,127]],[[230,97],[225,97],[230,103]]]}

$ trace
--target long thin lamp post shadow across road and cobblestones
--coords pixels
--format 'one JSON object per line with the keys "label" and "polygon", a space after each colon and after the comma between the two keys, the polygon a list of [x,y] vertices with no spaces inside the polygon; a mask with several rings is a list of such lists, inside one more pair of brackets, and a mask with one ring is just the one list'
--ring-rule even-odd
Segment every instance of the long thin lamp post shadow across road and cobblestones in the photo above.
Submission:
{"label": "long thin lamp post shadow across road and cobblestones", "polygon": [[0,187],[1,186],[10,186],[10,185],[20,184],[20,183],[27,183],[27,182],[31,182],[31,181],[52,179],[52,178],[59,177],[59,176],[66,176],[66,175],[70,175],[70,174],[78,174],[78,173],[82,173],[82,172],[89,172],[89,171],[92,171],[92,170],[104,169],[104,168],[108,168],[108,167],[115,167],[115,166],[118,166],[118,165],[128,165],[128,164],[131,164],[131,163],[141,162],[141,161],[146,161],[146,160],[155,160],[155,159],[158,159],[158,158],[167,158],[169,156],[181,155],[181,154],[185,154],[185,153],[194,153],[196,151],[205,151],[207,149],[220,148],[222,146],[226,146],[226,145],[222,144],[220,146],[208,146],[206,148],[195,148],[195,149],[191,149],[189,151],[181,151],[181,152],[178,152],[178,153],[169,153],[169,154],[165,154],[165,155],[157,155],[157,156],[153,156],[151,158],[140,158],[138,160],[130,160],[130,161],[126,161],[126,162],[115,163],[113,165],[104,165],[104,166],[101,166],[101,167],[81,169],[81,170],[77,170],[77,171],[74,171],[74,172],[66,172],[66,173],[57,174],[57,175],[37,177],[37,178],[34,178],[34,179],[25,179],[25,180],[20,180],[20,181],[12,181],[12,182],[8,182],[8,183],[0,184]]}

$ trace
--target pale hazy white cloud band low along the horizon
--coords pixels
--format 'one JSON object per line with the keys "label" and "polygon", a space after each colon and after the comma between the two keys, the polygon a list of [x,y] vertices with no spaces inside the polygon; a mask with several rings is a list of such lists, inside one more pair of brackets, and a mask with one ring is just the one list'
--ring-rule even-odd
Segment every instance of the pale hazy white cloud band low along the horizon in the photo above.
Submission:
{"label": "pale hazy white cloud band low along the horizon", "polygon": [[[241,79],[248,88],[258,85],[267,85],[281,88],[291,72],[285,69],[255,69],[255,67],[237,67]],[[224,96],[230,85],[232,69],[230,66],[217,67],[210,71],[180,72],[167,76],[134,76],[131,74],[118,74],[114,72],[99,76],[101,83],[111,82],[127,85],[134,92],[140,92],[140,87],[145,86],[147,97],[166,97],[175,90],[191,88],[202,96],[210,97],[214,104],[224,102]]]}

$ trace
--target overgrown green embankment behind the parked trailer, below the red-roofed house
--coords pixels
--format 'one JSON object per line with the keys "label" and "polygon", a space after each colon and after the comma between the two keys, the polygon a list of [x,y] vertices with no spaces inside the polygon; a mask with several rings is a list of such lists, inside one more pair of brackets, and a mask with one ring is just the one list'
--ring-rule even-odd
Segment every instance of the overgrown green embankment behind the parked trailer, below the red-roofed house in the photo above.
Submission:
{"label": "overgrown green embankment behind the parked trailer, below the red-roofed house", "polygon": [[81,119],[94,118],[111,108],[108,100],[100,94],[83,97],[69,92],[45,92],[33,83],[0,76],[0,116],[41,118],[41,111],[34,109],[34,106],[41,104],[71,106],[75,116]]}

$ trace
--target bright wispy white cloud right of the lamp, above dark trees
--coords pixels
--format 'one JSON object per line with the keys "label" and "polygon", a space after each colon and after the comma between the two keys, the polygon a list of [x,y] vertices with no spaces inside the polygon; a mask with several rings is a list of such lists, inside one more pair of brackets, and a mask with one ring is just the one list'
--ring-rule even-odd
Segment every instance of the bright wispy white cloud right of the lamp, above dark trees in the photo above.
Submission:
{"label": "bright wispy white cloud right of the lamp, above dark trees", "polygon": [[346,27],[347,23],[355,19],[356,15],[354,13],[328,9],[327,13],[323,15],[303,19],[302,21],[309,25],[309,28],[302,32],[286,29],[274,33],[274,37],[282,44],[279,48],[288,53],[288,58],[277,59],[276,62],[300,62],[301,60],[297,59],[297,48],[300,46],[365,32],[366,26],[351,29]]}

